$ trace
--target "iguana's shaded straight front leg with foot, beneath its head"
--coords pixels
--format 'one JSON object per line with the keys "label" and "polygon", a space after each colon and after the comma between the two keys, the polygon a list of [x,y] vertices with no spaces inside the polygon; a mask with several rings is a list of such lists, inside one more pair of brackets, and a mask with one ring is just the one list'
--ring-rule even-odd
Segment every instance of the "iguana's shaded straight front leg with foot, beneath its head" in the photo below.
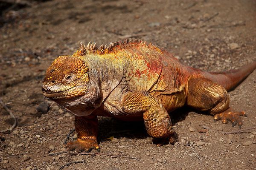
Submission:
{"label": "iguana's shaded straight front leg with foot, beneath its head", "polygon": [[75,116],[75,128],[78,139],[67,144],[68,150],[78,152],[92,149],[99,150],[97,142],[98,119],[97,116]]}

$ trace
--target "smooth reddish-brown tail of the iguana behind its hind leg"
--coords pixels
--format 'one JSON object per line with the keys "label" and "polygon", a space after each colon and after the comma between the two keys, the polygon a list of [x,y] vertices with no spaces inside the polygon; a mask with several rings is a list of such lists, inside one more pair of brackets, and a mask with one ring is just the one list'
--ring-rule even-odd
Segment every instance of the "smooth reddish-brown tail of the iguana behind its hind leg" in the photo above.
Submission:
{"label": "smooth reddish-brown tail of the iguana behind its hind leg", "polygon": [[230,70],[227,72],[204,72],[204,77],[213,82],[222,85],[227,91],[231,91],[238,86],[249,74],[256,69],[256,61],[243,66],[237,70]]}

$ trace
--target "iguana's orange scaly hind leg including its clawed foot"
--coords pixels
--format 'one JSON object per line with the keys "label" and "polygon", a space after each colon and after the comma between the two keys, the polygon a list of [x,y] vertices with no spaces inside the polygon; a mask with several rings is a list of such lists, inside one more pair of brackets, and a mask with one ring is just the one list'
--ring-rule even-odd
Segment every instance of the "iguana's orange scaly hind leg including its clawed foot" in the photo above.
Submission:
{"label": "iguana's orange scaly hind leg including its clawed foot", "polygon": [[214,115],[215,120],[222,119],[223,123],[228,120],[239,128],[243,124],[240,115],[245,113],[234,111],[229,108],[229,96],[221,85],[218,85],[206,78],[191,78],[188,82],[187,104],[200,111],[209,111]]}

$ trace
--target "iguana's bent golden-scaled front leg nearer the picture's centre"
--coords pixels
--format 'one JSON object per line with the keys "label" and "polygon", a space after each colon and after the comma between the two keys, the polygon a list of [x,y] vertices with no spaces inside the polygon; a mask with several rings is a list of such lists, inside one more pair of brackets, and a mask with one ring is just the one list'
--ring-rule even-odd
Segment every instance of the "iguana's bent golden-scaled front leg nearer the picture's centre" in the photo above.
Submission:
{"label": "iguana's bent golden-scaled front leg nearer the picture's centre", "polygon": [[145,127],[150,136],[167,138],[170,143],[177,141],[171,118],[159,99],[146,91],[134,91],[126,94],[120,104],[122,111],[128,115],[143,113]]}

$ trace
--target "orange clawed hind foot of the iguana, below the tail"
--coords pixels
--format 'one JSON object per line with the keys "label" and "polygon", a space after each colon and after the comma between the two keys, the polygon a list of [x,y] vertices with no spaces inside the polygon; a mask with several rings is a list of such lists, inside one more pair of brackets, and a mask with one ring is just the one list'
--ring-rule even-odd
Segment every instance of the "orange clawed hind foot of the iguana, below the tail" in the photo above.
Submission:
{"label": "orange clawed hind foot of the iguana, below the tail", "polygon": [[244,111],[237,112],[234,111],[232,108],[228,108],[226,111],[222,113],[217,113],[214,115],[215,122],[218,120],[222,120],[223,123],[227,123],[228,120],[232,123],[232,126],[236,126],[238,124],[239,128],[243,125],[242,119],[240,116],[246,116]]}

